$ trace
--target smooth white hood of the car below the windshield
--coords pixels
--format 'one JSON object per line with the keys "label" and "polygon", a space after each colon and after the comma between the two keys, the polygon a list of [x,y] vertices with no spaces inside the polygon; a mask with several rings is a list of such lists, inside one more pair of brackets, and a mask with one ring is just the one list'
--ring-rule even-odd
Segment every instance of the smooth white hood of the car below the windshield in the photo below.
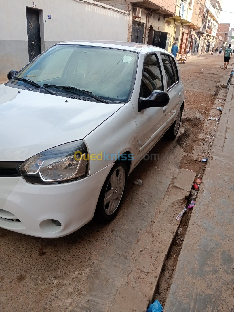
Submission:
{"label": "smooth white hood of the car below the windshield", "polygon": [[0,160],[23,161],[54,146],[84,139],[122,105],[0,85]]}

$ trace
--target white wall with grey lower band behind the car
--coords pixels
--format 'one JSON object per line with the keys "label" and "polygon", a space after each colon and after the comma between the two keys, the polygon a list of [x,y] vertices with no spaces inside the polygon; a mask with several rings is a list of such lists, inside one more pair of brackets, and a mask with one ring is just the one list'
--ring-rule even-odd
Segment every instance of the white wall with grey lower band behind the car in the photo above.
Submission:
{"label": "white wall with grey lower band behind the car", "polygon": [[[87,0],[35,0],[40,17],[41,49],[61,41],[127,41],[130,15],[106,4]],[[101,7],[99,7],[101,6]],[[0,80],[29,61],[26,7],[31,0],[0,0]],[[48,19],[51,15],[51,19]],[[44,22],[46,20],[46,22]]]}

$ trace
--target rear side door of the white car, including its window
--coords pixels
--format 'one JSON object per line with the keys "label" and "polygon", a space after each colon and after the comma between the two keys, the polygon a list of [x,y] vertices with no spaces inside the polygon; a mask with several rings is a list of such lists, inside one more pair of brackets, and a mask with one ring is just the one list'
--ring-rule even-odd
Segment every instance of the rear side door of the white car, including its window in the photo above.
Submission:
{"label": "rear side door of the white car, including its window", "polygon": [[161,53],[161,61],[163,64],[163,74],[166,78],[165,92],[169,95],[170,101],[167,104],[167,128],[172,124],[177,116],[177,109],[181,103],[182,86],[179,83],[179,74],[177,65],[172,56]]}

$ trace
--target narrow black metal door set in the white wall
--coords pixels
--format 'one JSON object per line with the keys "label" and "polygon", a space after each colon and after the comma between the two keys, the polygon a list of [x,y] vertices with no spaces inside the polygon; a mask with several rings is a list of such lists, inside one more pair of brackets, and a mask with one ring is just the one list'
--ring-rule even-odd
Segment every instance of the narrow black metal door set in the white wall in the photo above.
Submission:
{"label": "narrow black metal door set in the white wall", "polygon": [[39,12],[37,10],[27,7],[26,13],[29,61],[32,61],[36,56],[41,53]]}

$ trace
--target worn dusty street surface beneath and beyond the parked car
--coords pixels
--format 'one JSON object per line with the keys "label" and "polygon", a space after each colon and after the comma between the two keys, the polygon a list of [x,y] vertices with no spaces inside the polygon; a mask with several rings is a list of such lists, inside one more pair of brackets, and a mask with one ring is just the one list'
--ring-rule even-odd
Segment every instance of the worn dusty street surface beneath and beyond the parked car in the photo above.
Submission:
{"label": "worn dusty street surface beneath and beyond the parked car", "polygon": [[[218,84],[227,82],[232,71],[231,65],[227,71],[220,65],[223,56],[210,54],[180,64],[186,101],[178,137],[161,139],[151,150],[159,159],[143,160],[134,169],[113,222],[91,221],[57,239],[0,228],[1,310],[143,312],[154,296],[179,226],[175,216],[185,206],[195,176],[183,169],[204,174],[201,159],[209,157],[218,129],[209,116],[221,115],[213,107],[218,93],[226,97],[226,89]],[[132,183],[136,178],[142,186]],[[176,187],[183,179],[184,186]],[[178,248],[176,259],[179,253]]]}

